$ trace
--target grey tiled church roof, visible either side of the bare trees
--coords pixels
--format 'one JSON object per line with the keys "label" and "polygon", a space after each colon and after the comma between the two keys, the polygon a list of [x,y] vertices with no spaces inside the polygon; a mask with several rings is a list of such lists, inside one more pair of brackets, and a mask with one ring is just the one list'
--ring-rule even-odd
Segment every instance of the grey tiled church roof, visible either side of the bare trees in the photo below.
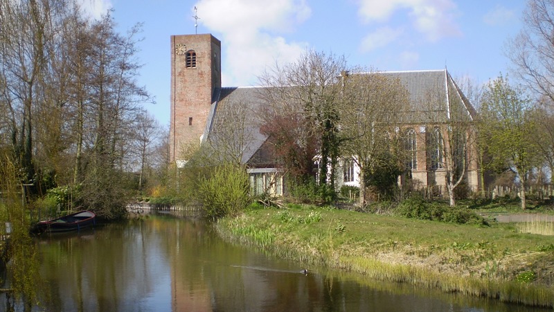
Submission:
{"label": "grey tiled church roof, visible either side of the bare trees", "polygon": [[[382,71],[406,88],[409,105],[400,112],[400,121],[409,124],[443,123],[447,119],[470,120],[475,110],[463,96],[446,69],[431,71]],[[363,73],[358,73],[363,74]],[[242,162],[246,163],[267,139],[260,133],[265,114],[264,87],[216,89],[206,132],[213,140],[217,133],[242,136]],[[206,135],[204,135],[206,137]]]}

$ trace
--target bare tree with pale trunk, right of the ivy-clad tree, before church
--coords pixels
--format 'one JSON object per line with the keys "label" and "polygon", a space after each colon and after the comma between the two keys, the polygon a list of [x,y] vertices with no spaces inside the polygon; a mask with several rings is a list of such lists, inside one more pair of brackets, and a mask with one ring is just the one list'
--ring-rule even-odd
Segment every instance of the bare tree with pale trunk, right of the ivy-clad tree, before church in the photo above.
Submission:
{"label": "bare tree with pale trunk, right of the ivy-clad tree, before church", "polygon": [[390,188],[402,172],[397,130],[408,94],[398,80],[377,71],[357,71],[341,77],[341,150],[359,168],[359,201],[365,205],[368,183]]}

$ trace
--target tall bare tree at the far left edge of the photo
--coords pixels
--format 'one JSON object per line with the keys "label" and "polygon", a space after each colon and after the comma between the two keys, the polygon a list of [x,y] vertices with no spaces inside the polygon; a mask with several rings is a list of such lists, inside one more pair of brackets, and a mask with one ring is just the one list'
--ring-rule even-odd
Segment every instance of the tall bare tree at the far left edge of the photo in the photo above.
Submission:
{"label": "tall bare tree at the far left edge of the photo", "polygon": [[47,4],[36,0],[0,3],[4,103],[12,117],[12,146],[25,183],[35,178],[33,105],[39,101],[37,85],[48,61],[44,48],[53,37]]}

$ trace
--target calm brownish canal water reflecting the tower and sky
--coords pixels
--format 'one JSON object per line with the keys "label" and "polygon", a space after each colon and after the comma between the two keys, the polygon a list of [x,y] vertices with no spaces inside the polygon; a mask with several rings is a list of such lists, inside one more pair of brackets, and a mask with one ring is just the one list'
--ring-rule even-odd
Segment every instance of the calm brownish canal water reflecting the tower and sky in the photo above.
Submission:
{"label": "calm brownish canal water reflecting the tower and sky", "polygon": [[46,295],[35,311],[543,311],[324,268],[305,275],[303,263],[170,214],[36,243]]}

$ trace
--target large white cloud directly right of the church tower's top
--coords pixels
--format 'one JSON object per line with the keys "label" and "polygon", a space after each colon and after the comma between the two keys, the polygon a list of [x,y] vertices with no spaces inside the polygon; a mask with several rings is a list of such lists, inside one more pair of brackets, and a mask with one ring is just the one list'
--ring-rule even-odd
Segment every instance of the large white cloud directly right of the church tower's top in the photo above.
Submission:
{"label": "large white cloud directly right of the church tower's top", "polygon": [[268,64],[292,62],[307,46],[278,35],[310,17],[305,0],[200,0],[195,6],[199,24],[222,35],[224,85],[256,83]]}

